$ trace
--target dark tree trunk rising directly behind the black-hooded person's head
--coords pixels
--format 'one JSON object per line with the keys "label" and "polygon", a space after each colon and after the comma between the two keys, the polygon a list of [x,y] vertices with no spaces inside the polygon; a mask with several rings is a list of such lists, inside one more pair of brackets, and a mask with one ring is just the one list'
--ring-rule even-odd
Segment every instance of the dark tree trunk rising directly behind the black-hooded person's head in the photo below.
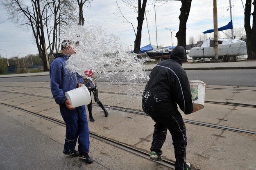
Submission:
{"label": "dark tree trunk rising directly behind the black-hooded person's head", "polygon": [[[186,25],[188,20],[188,15],[190,12],[192,0],[181,0],[181,14],[179,16],[179,31],[176,34],[178,43],[177,45],[184,47],[186,51]],[[185,54],[186,55],[186,54]],[[184,63],[187,62],[187,57],[185,56]]]}

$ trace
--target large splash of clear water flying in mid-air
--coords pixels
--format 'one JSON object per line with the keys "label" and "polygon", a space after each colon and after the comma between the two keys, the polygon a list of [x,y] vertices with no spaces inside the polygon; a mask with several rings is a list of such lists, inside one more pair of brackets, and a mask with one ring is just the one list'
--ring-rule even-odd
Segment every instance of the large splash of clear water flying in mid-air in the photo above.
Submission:
{"label": "large splash of clear water flying in mid-air", "polygon": [[129,47],[123,47],[120,38],[96,25],[73,25],[66,30],[63,39],[79,41],[72,44],[77,52],[67,63],[71,71],[85,76],[84,71],[92,69],[105,78],[122,77],[123,81],[148,79],[143,71],[145,59],[138,59],[136,54],[129,54]]}

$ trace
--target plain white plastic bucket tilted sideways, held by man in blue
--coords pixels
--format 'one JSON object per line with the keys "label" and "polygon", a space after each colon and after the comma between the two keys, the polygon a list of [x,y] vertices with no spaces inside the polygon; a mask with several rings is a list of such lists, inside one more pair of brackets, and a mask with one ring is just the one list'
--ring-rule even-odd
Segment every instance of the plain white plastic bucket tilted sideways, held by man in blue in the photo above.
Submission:
{"label": "plain white plastic bucket tilted sideways, held by man in blue", "polygon": [[66,92],[65,96],[71,103],[72,107],[79,107],[91,103],[91,95],[85,85]]}

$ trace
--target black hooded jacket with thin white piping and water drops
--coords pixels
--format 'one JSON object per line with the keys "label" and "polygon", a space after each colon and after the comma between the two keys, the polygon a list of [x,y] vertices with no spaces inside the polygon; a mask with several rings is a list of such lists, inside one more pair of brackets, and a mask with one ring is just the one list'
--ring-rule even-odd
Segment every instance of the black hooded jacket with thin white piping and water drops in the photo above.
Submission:
{"label": "black hooded jacket with thin white piping and water drops", "polygon": [[172,50],[170,59],[154,67],[143,92],[143,110],[154,110],[154,105],[161,102],[170,106],[174,112],[177,112],[177,104],[185,114],[193,111],[188,77],[181,67],[184,59],[185,49],[177,46]]}

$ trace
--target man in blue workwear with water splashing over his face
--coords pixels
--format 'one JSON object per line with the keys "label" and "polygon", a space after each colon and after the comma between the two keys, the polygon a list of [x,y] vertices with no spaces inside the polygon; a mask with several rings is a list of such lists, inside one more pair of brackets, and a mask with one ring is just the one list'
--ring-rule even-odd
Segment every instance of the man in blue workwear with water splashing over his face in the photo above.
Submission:
{"label": "man in blue workwear with water splashing over his face", "polygon": [[[52,96],[59,105],[61,116],[66,123],[63,154],[72,157],[79,156],[86,163],[93,163],[93,159],[88,155],[90,141],[85,105],[76,108],[71,107],[64,95],[65,92],[84,84],[82,76],[66,68],[66,61],[72,54],[76,53],[71,44],[72,42],[69,40],[64,40],[61,44],[60,53],[54,55],[54,60],[50,66],[50,86]],[[77,140],[78,151],[75,150]]]}

